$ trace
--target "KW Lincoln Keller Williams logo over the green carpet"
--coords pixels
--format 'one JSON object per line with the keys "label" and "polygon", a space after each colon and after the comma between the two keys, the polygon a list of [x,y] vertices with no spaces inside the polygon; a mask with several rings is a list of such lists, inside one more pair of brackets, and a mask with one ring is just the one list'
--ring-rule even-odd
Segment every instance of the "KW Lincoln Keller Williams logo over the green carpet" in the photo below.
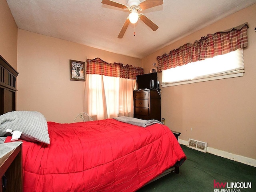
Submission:
{"label": "KW Lincoln Keller Williams logo over the green carpet", "polygon": [[242,192],[242,189],[252,188],[251,182],[216,182],[213,183],[214,192]]}

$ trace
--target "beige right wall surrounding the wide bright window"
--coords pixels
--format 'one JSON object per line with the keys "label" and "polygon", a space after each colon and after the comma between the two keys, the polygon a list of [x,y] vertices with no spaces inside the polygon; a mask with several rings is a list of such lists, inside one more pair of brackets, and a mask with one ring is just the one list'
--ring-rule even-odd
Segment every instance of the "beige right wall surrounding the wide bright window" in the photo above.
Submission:
{"label": "beige right wall surrounding the wide bright window", "polygon": [[[208,146],[256,159],[256,4],[228,16],[142,59],[149,71],[156,56],[195,40],[248,22],[249,45],[244,48],[243,77],[162,88],[162,118],[180,138],[208,142]],[[161,74],[158,74],[161,80]]]}

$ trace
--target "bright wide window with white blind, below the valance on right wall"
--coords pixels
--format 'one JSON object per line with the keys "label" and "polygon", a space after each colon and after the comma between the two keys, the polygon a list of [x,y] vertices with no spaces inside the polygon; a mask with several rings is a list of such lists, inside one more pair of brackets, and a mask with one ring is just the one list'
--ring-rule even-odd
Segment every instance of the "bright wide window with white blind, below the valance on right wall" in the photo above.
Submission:
{"label": "bright wide window with white blind, below the valance on right wall", "polygon": [[243,49],[162,71],[162,86],[243,76]]}

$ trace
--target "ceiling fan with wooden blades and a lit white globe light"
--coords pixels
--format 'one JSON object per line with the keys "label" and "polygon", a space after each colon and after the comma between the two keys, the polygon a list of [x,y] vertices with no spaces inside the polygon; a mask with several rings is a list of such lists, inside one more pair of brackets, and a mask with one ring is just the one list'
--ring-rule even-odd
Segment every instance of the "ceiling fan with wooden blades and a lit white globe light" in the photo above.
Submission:
{"label": "ceiling fan with wooden blades and a lit white globe light", "polygon": [[152,8],[158,5],[162,5],[164,2],[163,0],[145,0],[140,2],[140,0],[128,0],[127,5],[114,2],[112,0],[102,0],[102,4],[118,7],[121,9],[129,10],[130,14],[126,18],[124,25],[118,35],[118,38],[123,38],[126,29],[128,28],[129,22],[136,23],[138,19],[142,20],[147,26],[149,26],[153,31],[158,29],[158,26],[154,24],[149,18],[147,18],[144,14],[138,14],[138,10],[142,11],[148,8]]}

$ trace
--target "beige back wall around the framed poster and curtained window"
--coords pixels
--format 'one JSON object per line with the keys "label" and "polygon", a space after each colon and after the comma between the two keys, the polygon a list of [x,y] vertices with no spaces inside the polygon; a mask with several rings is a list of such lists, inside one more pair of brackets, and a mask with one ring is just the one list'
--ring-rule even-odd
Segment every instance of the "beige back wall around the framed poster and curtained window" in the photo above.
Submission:
{"label": "beige back wall around the framed poster and curtained window", "polygon": [[141,66],[141,60],[18,30],[17,110],[36,110],[48,121],[70,123],[83,112],[85,82],[70,81],[69,60],[99,57]]}

